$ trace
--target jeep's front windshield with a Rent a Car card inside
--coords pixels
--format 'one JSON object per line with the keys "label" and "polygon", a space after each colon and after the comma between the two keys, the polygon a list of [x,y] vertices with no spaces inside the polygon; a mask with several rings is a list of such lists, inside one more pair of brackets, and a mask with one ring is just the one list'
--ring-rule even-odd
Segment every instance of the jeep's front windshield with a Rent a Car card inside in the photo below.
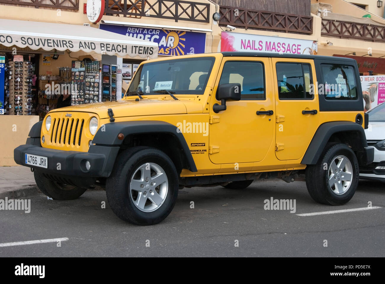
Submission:
{"label": "jeep's front windshield with a Rent a Car card inside", "polygon": [[145,63],[135,73],[126,96],[194,94],[202,95],[213,68],[214,57],[181,58]]}

